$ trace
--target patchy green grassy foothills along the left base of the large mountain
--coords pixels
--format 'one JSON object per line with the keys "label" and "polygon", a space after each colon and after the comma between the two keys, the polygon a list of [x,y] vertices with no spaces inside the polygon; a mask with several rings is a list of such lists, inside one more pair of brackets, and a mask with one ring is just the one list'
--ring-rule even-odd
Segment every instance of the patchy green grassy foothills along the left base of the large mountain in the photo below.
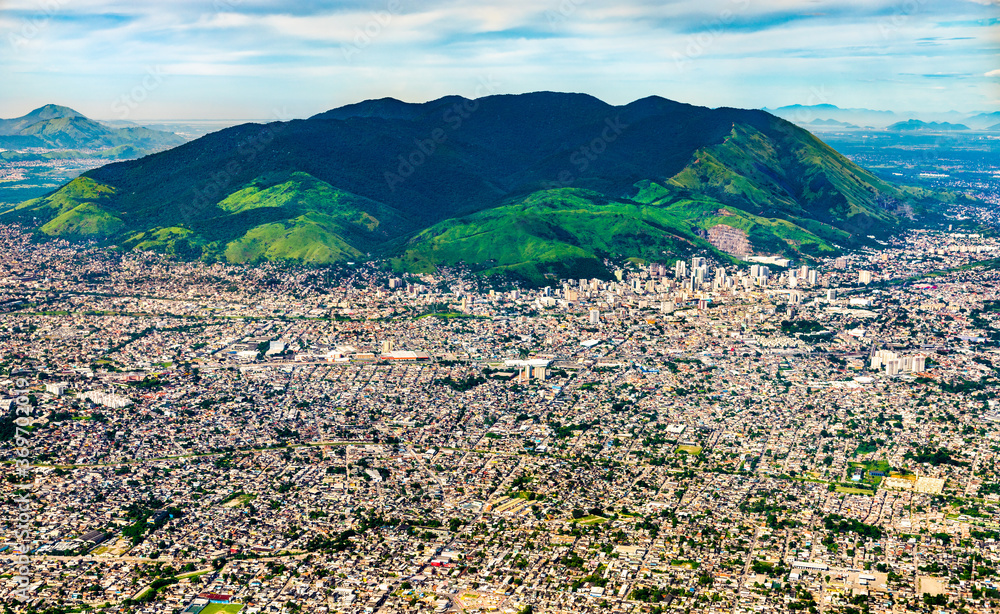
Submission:
{"label": "patchy green grassy foothills along the left base of the large mountain", "polygon": [[232,262],[335,262],[356,258],[409,230],[390,207],[306,173],[260,178],[195,215],[175,211],[169,226],[127,228],[110,206],[113,194],[109,186],[78,177],[53,194],[0,212],[0,219],[48,218],[40,231],[50,236],[117,237],[129,248]]}

